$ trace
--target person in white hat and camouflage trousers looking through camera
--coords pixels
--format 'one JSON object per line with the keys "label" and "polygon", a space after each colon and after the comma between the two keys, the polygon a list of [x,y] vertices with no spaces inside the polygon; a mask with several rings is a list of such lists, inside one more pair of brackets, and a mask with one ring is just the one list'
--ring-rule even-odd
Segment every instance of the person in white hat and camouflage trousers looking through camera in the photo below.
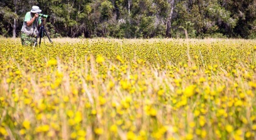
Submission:
{"label": "person in white hat and camouflage trousers looking through camera", "polygon": [[41,19],[39,12],[42,10],[38,6],[32,6],[30,12],[26,12],[26,16],[21,29],[21,44],[23,46],[32,46],[38,34],[38,27],[40,27]]}

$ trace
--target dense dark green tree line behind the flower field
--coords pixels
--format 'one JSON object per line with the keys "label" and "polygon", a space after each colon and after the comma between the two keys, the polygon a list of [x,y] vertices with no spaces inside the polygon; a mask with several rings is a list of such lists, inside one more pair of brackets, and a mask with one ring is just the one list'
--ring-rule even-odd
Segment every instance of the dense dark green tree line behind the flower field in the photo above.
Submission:
{"label": "dense dark green tree line behind the flower field", "polygon": [[255,0],[1,0],[0,36],[37,5],[51,37],[256,38]]}

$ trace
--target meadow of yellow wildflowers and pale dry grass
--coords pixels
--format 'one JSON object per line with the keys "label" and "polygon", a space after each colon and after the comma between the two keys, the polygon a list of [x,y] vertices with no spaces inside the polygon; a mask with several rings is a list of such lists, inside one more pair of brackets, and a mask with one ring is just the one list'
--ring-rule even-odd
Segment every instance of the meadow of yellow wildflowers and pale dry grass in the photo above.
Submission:
{"label": "meadow of yellow wildflowers and pale dry grass", "polygon": [[0,38],[0,139],[256,139],[256,40]]}

